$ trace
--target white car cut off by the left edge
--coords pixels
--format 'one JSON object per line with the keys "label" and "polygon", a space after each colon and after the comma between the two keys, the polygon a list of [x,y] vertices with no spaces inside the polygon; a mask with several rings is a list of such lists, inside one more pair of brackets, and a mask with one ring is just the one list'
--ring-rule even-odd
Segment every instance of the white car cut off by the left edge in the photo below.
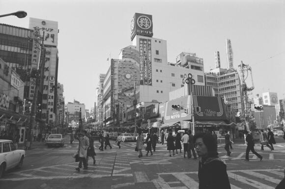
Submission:
{"label": "white car cut off by the left edge", "polygon": [[26,155],[25,150],[17,150],[11,140],[0,140],[0,178],[5,171],[21,168]]}

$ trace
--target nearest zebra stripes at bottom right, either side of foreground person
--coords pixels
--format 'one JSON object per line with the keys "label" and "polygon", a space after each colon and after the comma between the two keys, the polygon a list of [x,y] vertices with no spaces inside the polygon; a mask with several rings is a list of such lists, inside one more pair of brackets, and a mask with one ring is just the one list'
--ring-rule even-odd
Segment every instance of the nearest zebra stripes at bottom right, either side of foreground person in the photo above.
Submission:
{"label": "nearest zebra stripes at bottom right, either side of foreground person", "polygon": [[[275,189],[284,178],[283,169],[228,170],[231,189]],[[197,189],[198,172],[158,173],[151,180],[157,189]]]}

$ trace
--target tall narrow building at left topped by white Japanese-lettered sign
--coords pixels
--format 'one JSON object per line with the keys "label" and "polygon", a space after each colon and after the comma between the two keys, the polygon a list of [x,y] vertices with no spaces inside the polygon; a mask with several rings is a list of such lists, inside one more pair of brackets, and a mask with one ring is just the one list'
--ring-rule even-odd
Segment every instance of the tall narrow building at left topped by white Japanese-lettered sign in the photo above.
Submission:
{"label": "tall narrow building at left topped by white Japanese-lettered sign", "polygon": [[58,23],[45,19],[29,18],[29,29],[44,37],[45,63],[43,70],[42,120],[47,123],[49,131],[56,132]]}

